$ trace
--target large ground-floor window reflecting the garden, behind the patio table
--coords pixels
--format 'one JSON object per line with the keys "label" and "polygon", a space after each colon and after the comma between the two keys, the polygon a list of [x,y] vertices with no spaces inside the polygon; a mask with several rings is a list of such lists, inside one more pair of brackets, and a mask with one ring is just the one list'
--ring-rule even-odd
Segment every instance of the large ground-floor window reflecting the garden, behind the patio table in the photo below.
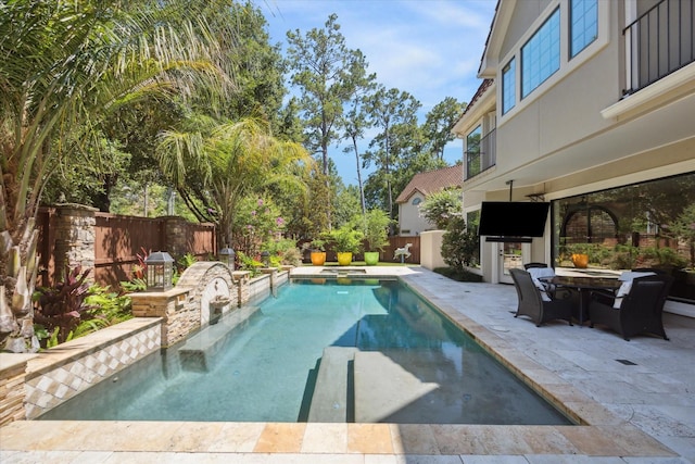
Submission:
{"label": "large ground-floor window reflecting the garden, behind the patio table", "polygon": [[[573,253],[587,253],[594,271],[652,267],[671,273],[670,296],[695,302],[695,173],[553,200],[553,260],[573,267]],[[665,233],[666,231],[666,233]],[[679,280],[681,279],[682,280]]]}

